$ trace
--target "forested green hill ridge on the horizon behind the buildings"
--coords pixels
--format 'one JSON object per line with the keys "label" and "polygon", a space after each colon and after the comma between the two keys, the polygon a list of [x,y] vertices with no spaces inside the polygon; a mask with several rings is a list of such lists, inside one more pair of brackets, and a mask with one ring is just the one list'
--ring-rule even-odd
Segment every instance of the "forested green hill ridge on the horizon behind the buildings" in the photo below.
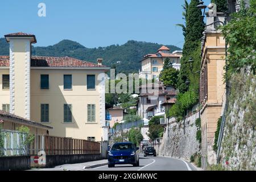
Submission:
{"label": "forested green hill ridge on the horizon behind the buildings", "polygon": [[[61,42],[47,47],[32,47],[32,55],[37,56],[70,56],[76,59],[96,63],[97,58],[104,59],[104,65],[109,67],[116,65],[117,72],[133,73],[141,68],[139,61],[148,53],[155,53],[161,44],[137,42],[129,40],[122,46],[112,45],[108,47],[86,48],[71,40]],[[180,49],[168,46],[171,51]],[[0,55],[9,55],[9,44],[4,38],[0,39]],[[118,64],[121,61],[121,64]]]}

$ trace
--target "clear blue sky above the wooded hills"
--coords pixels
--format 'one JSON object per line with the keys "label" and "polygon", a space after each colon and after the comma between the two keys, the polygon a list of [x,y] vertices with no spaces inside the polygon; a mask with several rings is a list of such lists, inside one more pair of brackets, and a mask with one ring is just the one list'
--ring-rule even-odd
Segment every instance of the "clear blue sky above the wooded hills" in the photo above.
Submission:
{"label": "clear blue sky above the wooded hills", "polygon": [[[46,17],[38,4],[46,4]],[[209,4],[210,0],[205,1]],[[105,47],[138,40],[182,47],[183,0],[1,0],[1,35],[28,32],[35,46],[63,39],[85,47]]]}

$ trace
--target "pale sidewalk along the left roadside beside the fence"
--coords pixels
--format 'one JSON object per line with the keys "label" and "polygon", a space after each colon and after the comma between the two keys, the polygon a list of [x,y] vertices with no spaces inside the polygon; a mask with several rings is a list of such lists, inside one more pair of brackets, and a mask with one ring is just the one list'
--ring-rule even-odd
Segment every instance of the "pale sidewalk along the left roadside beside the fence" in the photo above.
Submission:
{"label": "pale sidewalk along the left roadside beside the fence", "polygon": [[29,171],[80,171],[83,169],[96,168],[108,165],[108,160],[96,160],[79,164],[64,164],[55,168],[32,168]]}

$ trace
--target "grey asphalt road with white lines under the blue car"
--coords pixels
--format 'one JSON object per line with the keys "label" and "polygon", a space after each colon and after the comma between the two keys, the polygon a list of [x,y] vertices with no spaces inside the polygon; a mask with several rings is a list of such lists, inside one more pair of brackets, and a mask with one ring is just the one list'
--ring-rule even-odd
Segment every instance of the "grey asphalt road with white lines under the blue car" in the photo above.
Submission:
{"label": "grey asphalt road with white lines under the blue car", "polygon": [[97,167],[93,169],[85,169],[85,171],[196,171],[192,164],[184,160],[154,157],[143,157],[139,159],[140,166],[133,167],[130,164],[115,165],[114,168],[108,166]]}

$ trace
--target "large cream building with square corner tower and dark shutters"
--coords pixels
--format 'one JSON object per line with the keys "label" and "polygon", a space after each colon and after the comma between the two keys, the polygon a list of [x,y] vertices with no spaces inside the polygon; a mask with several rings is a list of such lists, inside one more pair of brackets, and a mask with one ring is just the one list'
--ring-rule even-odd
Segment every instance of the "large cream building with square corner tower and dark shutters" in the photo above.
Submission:
{"label": "large cream building with square corner tower and dark shutters", "polygon": [[[108,140],[105,72],[109,68],[71,57],[31,56],[36,37],[5,35],[10,56],[0,56],[0,108],[53,127],[49,135]],[[104,73],[104,74],[101,74]]]}

